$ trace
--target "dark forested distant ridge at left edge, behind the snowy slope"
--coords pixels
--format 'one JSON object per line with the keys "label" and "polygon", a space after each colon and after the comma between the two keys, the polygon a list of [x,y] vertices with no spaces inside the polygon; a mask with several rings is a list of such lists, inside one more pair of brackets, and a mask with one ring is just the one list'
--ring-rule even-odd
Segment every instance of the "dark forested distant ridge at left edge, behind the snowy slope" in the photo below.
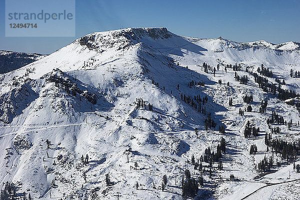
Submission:
{"label": "dark forested distant ridge at left edge, behind the snowy slope", "polygon": [[42,57],[43,55],[37,53],[0,50],[0,73],[18,69]]}

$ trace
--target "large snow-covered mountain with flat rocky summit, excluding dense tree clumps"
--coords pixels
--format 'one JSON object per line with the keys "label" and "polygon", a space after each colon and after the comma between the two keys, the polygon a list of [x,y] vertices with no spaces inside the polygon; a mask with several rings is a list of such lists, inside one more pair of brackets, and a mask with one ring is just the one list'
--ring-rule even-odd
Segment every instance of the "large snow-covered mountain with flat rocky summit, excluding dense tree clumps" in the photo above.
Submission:
{"label": "large snow-covered mountain with flat rocky summit, excluding dense tree clumps", "polygon": [[[273,138],[296,141],[298,111],[248,73],[263,64],[273,73],[269,83],[284,79],[282,88],[299,92],[298,78],[290,77],[291,69],[300,70],[298,48],[125,28],[85,35],[0,74],[0,186],[6,191],[5,182],[12,182],[16,196],[40,199],[182,199],[181,178],[192,184],[188,169],[196,182],[204,179],[195,198],[241,199],[265,184],[247,199],[282,199],[287,189],[298,198],[299,173],[264,143],[277,126],[282,134]],[[247,84],[235,81],[235,72],[247,75]],[[248,108],[245,95],[253,97],[252,111],[239,115]],[[267,124],[272,111],[294,124]],[[244,137],[247,121],[259,127],[257,137]],[[209,166],[201,157],[207,147],[217,152],[221,138],[226,150],[217,169],[219,161]],[[253,144],[257,153],[249,154]],[[282,165],[257,172],[264,155]],[[277,184],[289,172],[292,181]]]}

